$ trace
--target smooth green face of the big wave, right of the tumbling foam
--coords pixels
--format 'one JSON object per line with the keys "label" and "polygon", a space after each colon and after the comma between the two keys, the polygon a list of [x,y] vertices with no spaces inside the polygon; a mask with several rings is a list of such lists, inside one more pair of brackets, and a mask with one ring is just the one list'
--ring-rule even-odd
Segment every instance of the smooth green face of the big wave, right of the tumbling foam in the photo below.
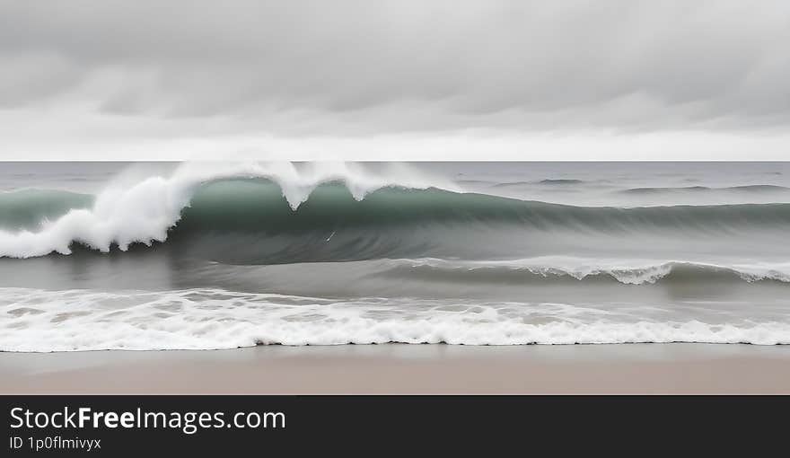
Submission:
{"label": "smooth green face of the big wave, right of the tumbling foam", "polygon": [[619,232],[781,226],[790,225],[790,204],[572,207],[440,189],[393,188],[356,200],[341,184],[329,183],[315,189],[294,211],[276,184],[239,180],[217,181],[198,189],[177,231],[284,233],[460,223]]}

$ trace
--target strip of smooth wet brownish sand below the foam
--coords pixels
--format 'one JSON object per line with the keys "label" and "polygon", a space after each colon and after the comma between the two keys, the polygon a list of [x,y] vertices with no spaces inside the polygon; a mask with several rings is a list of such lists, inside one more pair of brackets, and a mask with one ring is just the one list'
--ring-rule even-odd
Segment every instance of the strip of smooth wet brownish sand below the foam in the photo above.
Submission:
{"label": "strip of smooth wet brownish sand below the foam", "polygon": [[0,353],[0,393],[790,393],[790,346],[390,344]]}

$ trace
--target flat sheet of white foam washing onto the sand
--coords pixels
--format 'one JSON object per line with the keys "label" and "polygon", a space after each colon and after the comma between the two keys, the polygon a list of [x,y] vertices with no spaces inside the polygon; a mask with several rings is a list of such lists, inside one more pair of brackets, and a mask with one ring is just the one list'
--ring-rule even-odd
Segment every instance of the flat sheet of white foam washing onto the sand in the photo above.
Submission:
{"label": "flat sheet of white foam washing onto the sand", "polygon": [[210,349],[258,344],[624,342],[790,344],[790,323],[651,315],[650,307],[329,299],[199,289],[0,290],[0,350]]}

